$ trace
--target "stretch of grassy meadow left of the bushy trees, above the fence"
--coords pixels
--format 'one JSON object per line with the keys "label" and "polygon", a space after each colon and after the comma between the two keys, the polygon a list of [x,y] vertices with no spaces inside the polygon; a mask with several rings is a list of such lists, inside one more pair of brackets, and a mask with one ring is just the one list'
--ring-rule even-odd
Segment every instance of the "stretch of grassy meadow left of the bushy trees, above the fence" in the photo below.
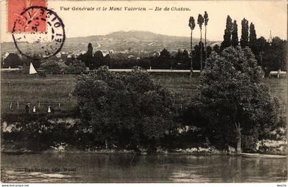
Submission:
{"label": "stretch of grassy meadow left of the bushy trees, above the fence", "polygon": [[1,112],[10,111],[10,101],[13,102],[12,110],[18,112],[25,112],[26,103],[37,108],[40,103],[38,112],[45,112],[49,105],[58,110],[59,103],[60,110],[69,110],[75,105],[75,100],[71,97],[75,80],[75,75],[38,77],[2,73]]}

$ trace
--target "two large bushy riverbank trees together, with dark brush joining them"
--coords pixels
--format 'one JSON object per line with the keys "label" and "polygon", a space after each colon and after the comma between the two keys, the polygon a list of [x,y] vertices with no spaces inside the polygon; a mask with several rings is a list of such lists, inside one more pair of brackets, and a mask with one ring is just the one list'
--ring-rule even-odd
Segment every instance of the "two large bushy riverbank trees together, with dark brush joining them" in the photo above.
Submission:
{"label": "two large bushy riverbank trees together, with dark brush joining them", "polygon": [[278,99],[263,83],[263,70],[250,48],[213,51],[202,77],[201,97],[187,101],[183,111],[176,110],[167,88],[138,69],[121,74],[101,67],[80,75],[73,95],[84,127],[105,147],[153,151],[182,147],[201,136],[202,146],[253,152],[256,142],[283,127]]}

